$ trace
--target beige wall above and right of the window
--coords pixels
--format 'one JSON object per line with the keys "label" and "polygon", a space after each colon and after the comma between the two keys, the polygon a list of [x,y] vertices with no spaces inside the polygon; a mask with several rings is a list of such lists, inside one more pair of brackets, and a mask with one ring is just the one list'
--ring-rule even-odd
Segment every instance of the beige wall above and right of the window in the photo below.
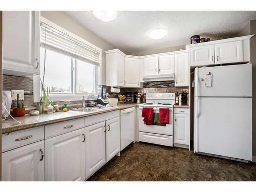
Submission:
{"label": "beige wall above and right of the window", "polygon": [[102,84],[105,84],[105,53],[106,50],[115,49],[114,46],[109,44],[109,42],[105,41],[89,29],[83,27],[80,23],[78,23],[75,19],[67,15],[62,11],[41,11],[41,16],[51,20],[51,22],[59,25],[62,28],[74,33],[75,35],[91,42],[95,46],[102,49]]}

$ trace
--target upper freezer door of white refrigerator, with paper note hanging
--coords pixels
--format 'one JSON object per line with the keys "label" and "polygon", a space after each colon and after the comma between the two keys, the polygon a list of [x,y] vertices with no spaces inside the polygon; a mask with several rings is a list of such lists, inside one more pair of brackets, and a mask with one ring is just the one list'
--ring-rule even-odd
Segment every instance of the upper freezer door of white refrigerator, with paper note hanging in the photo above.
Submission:
{"label": "upper freezer door of white refrigerator, with paper note hanging", "polygon": [[[206,75],[212,74],[211,87],[206,87]],[[241,65],[198,68],[195,71],[195,96],[201,97],[251,97],[251,63]]]}

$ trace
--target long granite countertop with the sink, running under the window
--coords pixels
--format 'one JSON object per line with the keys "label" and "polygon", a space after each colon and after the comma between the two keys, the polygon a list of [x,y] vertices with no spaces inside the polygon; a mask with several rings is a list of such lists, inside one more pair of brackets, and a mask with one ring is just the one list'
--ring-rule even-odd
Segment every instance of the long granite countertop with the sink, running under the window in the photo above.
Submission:
{"label": "long granite countertop with the sink, running under the window", "polygon": [[20,130],[26,130],[36,126],[48,125],[58,123],[62,121],[68,121],[72,119],[87,117],[91,115],[97,115],[101,113],[111,112],[115,110],[122,110],[137,106],[137,103],[127,103],[113,106],[113,108],[93,111],[93,112],[80,112],[80,111],[68,111],[68,112],[56,112],[53,114],[40,114],[40,115],[25,115],[23,117],[15,117],[17,121],[21,121],[20,124],[13,119],[8,118],[2,122],[2,134],[11,133]]}

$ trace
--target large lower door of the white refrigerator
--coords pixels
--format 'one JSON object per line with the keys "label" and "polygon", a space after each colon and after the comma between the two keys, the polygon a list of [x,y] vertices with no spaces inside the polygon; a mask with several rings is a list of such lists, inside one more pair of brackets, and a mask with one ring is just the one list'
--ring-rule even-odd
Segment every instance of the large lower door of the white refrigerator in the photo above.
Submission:
{"label": "large lower door of the white refrigerator", "polygon": [[197,152],[252,160],[251,98],[198,98]]}

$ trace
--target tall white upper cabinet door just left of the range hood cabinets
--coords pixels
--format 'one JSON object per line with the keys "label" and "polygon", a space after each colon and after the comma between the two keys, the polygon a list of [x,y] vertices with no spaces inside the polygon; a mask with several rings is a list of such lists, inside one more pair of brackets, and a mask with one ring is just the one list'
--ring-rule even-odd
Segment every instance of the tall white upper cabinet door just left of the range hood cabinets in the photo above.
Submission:
{"label": "tall white upper cabinet door just left of the range hood cabinets", "polygon": [[125,57],[125,87],[139,87],[140,59]]}

